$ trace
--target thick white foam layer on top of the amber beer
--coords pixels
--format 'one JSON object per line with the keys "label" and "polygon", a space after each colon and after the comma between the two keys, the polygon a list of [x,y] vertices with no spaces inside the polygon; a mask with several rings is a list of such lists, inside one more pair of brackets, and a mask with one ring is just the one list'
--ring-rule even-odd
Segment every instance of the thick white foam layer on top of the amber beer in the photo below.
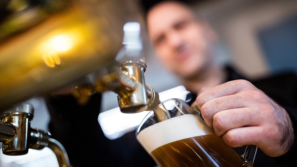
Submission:
{"label": "thick white foam layer on top of the amber beer", "polygon": [[148,153],[151,153],[170,142],[214,134],[214,130],[199,119],[197,115],[186,114],[159,122],[140,131],[137,140]]}

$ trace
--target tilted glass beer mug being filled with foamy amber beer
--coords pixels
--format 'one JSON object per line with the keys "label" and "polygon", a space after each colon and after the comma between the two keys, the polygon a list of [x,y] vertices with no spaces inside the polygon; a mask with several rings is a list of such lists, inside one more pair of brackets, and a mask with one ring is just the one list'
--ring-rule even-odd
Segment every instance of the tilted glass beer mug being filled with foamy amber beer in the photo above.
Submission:
{"label": "tilted glass beer mug being filled with foamy amber beer", "polygon": [[238,155],[208,127],[198,108],[180,99],[160,103],[141,122],[136,138],[159,167],[252,166],[256,146]]}

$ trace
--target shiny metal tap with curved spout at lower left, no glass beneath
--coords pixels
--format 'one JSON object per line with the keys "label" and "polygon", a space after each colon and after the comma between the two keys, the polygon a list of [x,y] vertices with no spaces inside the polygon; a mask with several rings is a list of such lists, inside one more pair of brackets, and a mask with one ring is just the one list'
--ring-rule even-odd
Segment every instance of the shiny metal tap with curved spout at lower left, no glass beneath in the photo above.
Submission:
{"label": "shiny metal tap with curved spout at lower left, no glass beneath", "polygon": [[29,148],[41,150],[49,147],[55,153],[60,167],[71,167],[64,147],[48,132],[31,128],[34,108],[20,103],[0,112],[0,142],[5,155],[24,155]]}

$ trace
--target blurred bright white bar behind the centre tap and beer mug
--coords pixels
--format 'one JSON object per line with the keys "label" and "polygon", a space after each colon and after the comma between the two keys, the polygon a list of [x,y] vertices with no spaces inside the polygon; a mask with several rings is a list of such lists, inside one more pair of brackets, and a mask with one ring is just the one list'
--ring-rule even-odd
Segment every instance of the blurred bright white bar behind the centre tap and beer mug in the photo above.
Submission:
{"label": "blurred bright white bar behind the centre tap and beer mug", "polygon": [[[160,101],[170,98],[179,98],[186,100],[189,91],[184,86],[174,87],[159,93]],[[128,132],[135,131],[137,126],[149,111],[143,111],[135,114],[125,114],[120,111],[119,107],[102,112],[98,116],[98,122],[104,135],[113,140],[123,136]]]}

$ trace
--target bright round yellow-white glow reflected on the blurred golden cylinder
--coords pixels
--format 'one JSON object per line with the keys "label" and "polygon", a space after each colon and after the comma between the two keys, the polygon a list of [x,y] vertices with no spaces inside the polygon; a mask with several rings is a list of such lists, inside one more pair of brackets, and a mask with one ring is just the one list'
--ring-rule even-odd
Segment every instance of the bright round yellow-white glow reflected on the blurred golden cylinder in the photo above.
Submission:
{"label": "bright round yellow-white glow reflected on the blurred golden cylinder", "polygon": [[53,47],[60,52],[68,51],[73,44],[67,35],[58,35],[51,40]]}

